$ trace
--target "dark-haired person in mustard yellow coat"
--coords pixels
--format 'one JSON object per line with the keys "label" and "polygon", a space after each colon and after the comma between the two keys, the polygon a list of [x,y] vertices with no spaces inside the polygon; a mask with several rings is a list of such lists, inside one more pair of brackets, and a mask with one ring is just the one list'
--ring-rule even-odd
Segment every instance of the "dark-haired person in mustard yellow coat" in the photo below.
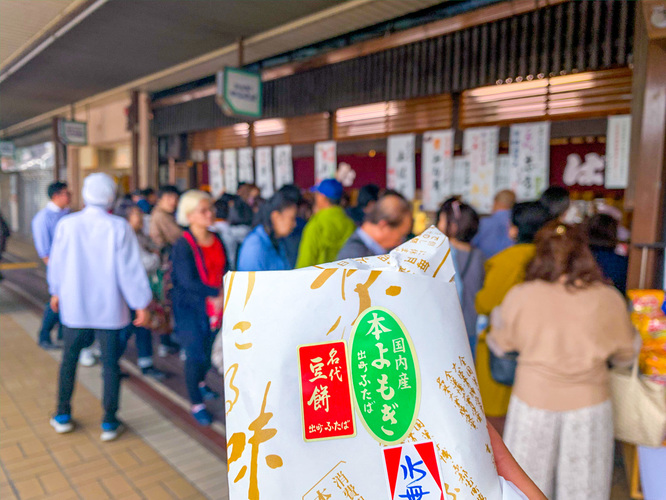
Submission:
{"label": "dark-haired person in mustard yellow coat", "polygon": [[[509,234],[517,244],[486,261],[486,279],[476,295],[476,311],[489,316],[501,305],[504,296],[525,279],[527,264],[534,258],[534,236],[548,222],[548,211],[538,202],[518,203],[511,211]],[[476,373],[486,416],[500,429],[497,418],[504,417],[509,408],[511,387],[495,382],[490,374],[490,354],[483,332],[476,346]]]}

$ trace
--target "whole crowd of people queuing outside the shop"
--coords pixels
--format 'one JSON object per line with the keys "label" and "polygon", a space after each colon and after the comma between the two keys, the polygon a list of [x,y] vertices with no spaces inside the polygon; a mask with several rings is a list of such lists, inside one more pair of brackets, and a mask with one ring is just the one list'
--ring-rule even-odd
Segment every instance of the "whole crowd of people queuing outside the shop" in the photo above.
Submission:
{"label": "whole crowd of people queuing outside the shop", "polygon": [[[389,252],[410,234],[412,208],[399,193],[375,187],[362,189],[359,205],[347,211],[334,179],[305,193],[312,205],[296,186],[262,200],[251,185],[219,200],[165,186],[116,202],[113,180],[92,174],[83,188],[86,207],[68,215],[67,186],[52,185],[33,229],[52,294],[40,345],[55,346],[50,330],[57,315],[63,331],[56,431],[73,429],[76,365],[95,341],[104,364],[104,440],[122,428],[118,360],[132,335],[144,374],[167,376],[152,359],[149,309],[156,302],[172,324],[158,351],[181,353],[192,416],[210,425],[206,402],[219,395],[206,376],[221,326],[224,273]],[[114,202],[119,217],[109,213]],[[568,206],[562,188],[523,203],[501,191],[493,214],[480,218],[454,197],[442,204],[436,225],[450,242],[488,420],[501,432],[506,419],[509,449],[549,498],[605,498],[613,443],[608,363],[626,363],[636,349],[620,293],[626,258],[614,250],[615,219],[597,214],[572,225]]]}

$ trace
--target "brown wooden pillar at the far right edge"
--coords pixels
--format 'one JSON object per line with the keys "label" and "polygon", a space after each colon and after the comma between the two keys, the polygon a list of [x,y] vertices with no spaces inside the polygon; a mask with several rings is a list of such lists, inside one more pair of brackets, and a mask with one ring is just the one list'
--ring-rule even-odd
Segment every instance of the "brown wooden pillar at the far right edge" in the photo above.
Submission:
{"label": "brown wooden pillar at the far right edge", "polygon": [[[627,205],[633,209],[628,288],[637,288],[643,273],[646,287],[661,288],[663,250],[643,252],[634,245],[654,244],[664,238],[666,205],[666,28],[652,22],[654,8],[666,0],[643,0],[636,12],[634,76],[631,109],[631,167]],[[645,255],[642,255],[645,254]]]}

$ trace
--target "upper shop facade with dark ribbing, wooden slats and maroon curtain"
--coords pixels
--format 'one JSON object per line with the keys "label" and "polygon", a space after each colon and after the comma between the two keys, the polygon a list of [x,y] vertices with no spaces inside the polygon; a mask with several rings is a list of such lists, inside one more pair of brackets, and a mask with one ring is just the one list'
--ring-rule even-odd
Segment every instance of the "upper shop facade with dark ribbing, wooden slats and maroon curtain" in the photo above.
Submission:
{"label": "upper shop facade with dark ribbing, wooden slats and maroon curtain", "polygon": [[[454,130],[451,152],[458,157],[465,152],[464,131],[499,127],[495,147],[500,162],[509,153],[511,125],[548,121],[552,144],[546,144],[551,154],[546,155],[545,168],[550,166],[552,178],[546,171],[540,187],[566,184],[558,172],[563,173],[566,166],[561,158],[567,148],[572,161],[576,154],[584,159],[595,151],[605,156],[607,116],[630,112],[627,62],[634,10],[624,2],[595,4],[591,9],[561,2],[502,18],[479,16],[489,21],[481,24],[465,24],[461,19],[457,30],[450,27],[455,20],[440,21],[427,25],[428,35],[416,42],[405,43],[410,37],[396,34],[381,44],[354,46],[356,57],[342,49],[339,55],[334,52],[300,65],[265,69],[263,113],[256,121],[225,116],[215,96],[201,97],[206,95],[201,89],[198,98],[184,97],[176,104],[162,105],[158,100],[153,130],[160,141],[160,180],[208,184],[209,151],[245,148],[253,148],[259,175],[265,168],[256,165],[257,148],[289,145],[291,177],[306,188],[315,182],[316,144],[335,141],[337,162],[348,163],[356,173],[352,188],[368,182],[385,187],[392,170],[387,160],[389,143],[395,145],[390,138],[414,134],[409,139],[413,160],[407,165],[412,186],[405,194],[420,199],[422,176],[431,179],[423,174],[424,133]],[[603,35],[571,39],[578,30],[602,24],[610,26]],[[385,48],[380,50],[382,44]],[[236,154],[234,169],[243,155]],[[274,152],[269,156],[275,160]],[[565,161],[569,156],[564,154]],[[271,163],[275,169],[275,161]],[[589,168],[589,163],[581,164]],[[272,172],[272,177],[278,177],[277,173]],[[586,199],[590,191],[592,196],[613,199],[622,195],[608,191],[604,180],[596,185],[575,182],[570,187]],[[495,190],[496,186],[490,183],[482,188]],[[443,198],[459,191],[449,186],[435,194]],[[430,208],[435,204],[429,203]],[[485,207],[477,208],[483,212]]]}

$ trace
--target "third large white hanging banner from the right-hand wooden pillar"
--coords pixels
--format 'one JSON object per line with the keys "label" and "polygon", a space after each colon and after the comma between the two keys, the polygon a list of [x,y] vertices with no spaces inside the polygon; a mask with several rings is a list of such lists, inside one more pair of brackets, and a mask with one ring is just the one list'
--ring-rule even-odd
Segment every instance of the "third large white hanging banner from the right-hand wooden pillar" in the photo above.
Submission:
{"label": "third large white hanging banner from the right-hand wooden pillar", "polygon": [[483,214],[489,214],[493,208],[498,149],[499,127],[465,130],[463,152],[469,158],[471,179],[468,203]]}

